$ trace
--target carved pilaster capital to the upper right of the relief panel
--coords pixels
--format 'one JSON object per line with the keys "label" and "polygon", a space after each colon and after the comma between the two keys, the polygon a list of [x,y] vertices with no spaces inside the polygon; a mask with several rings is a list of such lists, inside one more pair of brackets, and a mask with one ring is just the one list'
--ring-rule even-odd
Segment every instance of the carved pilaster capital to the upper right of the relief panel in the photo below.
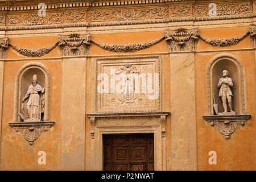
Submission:
{"label": "carved pilaster capital to the upper right of the relief panel", "polygon": [[198,38],[198,28],[178,28],[166,31],[166,41],[170,52],[195,51]]}

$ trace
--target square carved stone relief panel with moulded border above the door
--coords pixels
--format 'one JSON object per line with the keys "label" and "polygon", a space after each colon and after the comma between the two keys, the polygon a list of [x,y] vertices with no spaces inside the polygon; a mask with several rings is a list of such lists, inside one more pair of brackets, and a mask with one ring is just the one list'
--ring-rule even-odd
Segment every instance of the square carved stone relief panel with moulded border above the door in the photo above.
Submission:
{"label": "square carved stone relief panel with moulded border above the door", "polygon": [[158,56],[98,59],[96,111],[160,111],[159,73]]}

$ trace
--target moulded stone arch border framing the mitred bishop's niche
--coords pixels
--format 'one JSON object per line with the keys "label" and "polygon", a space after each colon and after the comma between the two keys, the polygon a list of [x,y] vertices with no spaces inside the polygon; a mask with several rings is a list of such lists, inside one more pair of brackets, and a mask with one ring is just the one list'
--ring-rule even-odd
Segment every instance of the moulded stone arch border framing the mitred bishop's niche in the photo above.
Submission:
{"label": "moulded stone arch border framing the mitred bishop's niche", "polygon": [[19,69],[16,77],[15,77],[15,84],[14,84],[14,121],[18,122],[18,112],[20,110],[20,79],[22,78],[22,75],[31,68],[38,68],[46,77],[46,92],[45,92],[45,109],[44,109],[44,121],[49,121],[49,96],[50,96],[50,73],[48,69],[41,63],[28,63],[23,65],[22,68]]}

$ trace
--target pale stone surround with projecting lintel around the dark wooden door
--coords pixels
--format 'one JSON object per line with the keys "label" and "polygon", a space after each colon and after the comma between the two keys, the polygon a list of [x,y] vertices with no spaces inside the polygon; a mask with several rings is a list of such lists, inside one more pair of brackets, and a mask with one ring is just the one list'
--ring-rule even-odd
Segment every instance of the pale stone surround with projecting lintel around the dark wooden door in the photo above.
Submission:
{"label": "pale stone surround with projecting lintel around the dark wooden door", "polygon": [[[90,119],[91,148],[90,170],[104,169],[104,134],[154,134],[154,168],[156,171],[166,169],[166,120],[168,111],[141,113],[88,113]],[[140,119],[137,124],[132,119]],[[144,120],[146,119],[146,120]],[[144,121],[143,121],[144,120]],[[145,122],[150,120],[150,122]],[[120,123],[123,123],[120,127]]]}

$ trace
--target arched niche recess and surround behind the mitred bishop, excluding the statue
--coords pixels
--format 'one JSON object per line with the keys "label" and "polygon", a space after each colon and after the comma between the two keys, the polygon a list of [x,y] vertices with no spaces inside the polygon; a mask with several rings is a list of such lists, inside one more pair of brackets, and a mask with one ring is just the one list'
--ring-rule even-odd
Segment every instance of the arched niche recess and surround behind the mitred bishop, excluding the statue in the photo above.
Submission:
{"label": "arched niche recess and surround behind the mitred bishop, excluding the statue", "polygon": [[38,83],[45,87],[45,100],[44,100],[44,113],[42,115],[42,121],[49,121],[49,92],[50,92],[50,75],[49,71],[43,64],[40,63],[28,63],[20,68],[18,74],[15,77],[14,88],[14,121],[22,121],[19,117],[22,98],[26,94],[28,86],[32,83],[32,76],[38,75]]}

